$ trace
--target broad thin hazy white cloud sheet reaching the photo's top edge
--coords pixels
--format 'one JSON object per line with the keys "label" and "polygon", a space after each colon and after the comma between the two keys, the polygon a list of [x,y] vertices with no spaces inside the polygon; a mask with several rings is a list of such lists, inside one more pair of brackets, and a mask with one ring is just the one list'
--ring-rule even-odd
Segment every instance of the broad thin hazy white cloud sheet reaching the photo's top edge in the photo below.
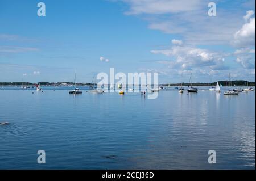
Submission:
{"label": "broad thin hazy white cloud sheet reaching the photo's top edge", "polygon": [[[126,14],[137,15],[147,20],[148,28],[179,34],[186,43],[194,45],[229,45],[233,39],[233,32],[244,23],[240,18],[242,11],[232,8],[222,9],[217,6],[217,16],[208,16],[209,2],[203,0],[123,0],[123,2],[130,7]],[[230,6],[232,5],[231,2]]]}

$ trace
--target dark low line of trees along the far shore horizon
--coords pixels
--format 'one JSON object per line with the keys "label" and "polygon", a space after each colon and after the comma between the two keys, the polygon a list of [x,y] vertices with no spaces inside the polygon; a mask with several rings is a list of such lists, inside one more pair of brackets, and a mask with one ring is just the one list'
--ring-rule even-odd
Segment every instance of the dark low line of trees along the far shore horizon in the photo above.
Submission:
{"label": "dark low line of trees along the far shore horizon", "polygon": [[[229,81],[218,81],[222,86],[229,86]],[[36,83],[31,82],[0,82],[1,86],[33,86]],[[73,82],[38,82],[41,86],[60,86],[73,85]],[[217,82],[213,83],[192,83],[192,86],[216,86]],[[76,83],[77,86],[96,86],[96,83]],[[181,86],[181,83],[165,83],[163,86]],[[189,86],[191,83],[182,83],[183,86]],[[247,81],[230,81],[230,86],[247,86]],[[255,86],[255,82],[248,82],[248,86]]]}

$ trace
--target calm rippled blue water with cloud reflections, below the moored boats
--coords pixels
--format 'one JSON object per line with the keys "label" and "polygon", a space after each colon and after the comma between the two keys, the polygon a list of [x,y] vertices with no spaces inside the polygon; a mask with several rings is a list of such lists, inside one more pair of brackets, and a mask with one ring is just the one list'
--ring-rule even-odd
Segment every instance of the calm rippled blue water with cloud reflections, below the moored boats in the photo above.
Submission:
{"label": "calm rippled blue water with cloud reflections, below the moored boats", "polygon": [[254,91],[147,99],[42,88],[0,89],[0,122],[10,123],[0,126],[0,169],[255,169]]}

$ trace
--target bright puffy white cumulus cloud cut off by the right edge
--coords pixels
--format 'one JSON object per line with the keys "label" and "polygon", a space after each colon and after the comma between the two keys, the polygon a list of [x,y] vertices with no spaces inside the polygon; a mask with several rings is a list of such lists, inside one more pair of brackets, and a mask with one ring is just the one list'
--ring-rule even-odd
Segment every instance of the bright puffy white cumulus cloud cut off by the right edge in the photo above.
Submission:
{"label": "bright puffy white cumulus cloud cut off by the right edge", "polygon": [[243,17],[247,22],[234,33],[233,44],[236,47],[255,46],[255,17],[251,18],[253,14],[254,11],[247,11],[247,14]]}

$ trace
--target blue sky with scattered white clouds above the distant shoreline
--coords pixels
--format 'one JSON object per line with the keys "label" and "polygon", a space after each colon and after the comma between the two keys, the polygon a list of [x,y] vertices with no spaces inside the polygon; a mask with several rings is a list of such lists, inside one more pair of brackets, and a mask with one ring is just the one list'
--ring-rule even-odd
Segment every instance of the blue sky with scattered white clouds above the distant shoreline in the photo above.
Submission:
{"label": "blue sky with scattered white clouds above the distant shoreline", "polygon": [[110,68],[159,83],[255,81],[255,0],[209,2],[0,0],[0,82],[72,82],[77,69],[86,83]]}

